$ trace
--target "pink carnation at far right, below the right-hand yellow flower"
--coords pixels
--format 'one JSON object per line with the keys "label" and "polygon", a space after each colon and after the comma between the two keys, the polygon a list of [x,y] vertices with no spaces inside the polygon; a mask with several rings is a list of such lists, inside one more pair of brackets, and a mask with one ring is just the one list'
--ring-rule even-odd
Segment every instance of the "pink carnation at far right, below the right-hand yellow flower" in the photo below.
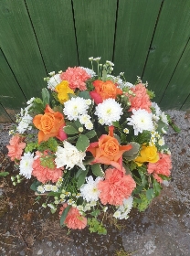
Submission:
{"label": "pink carnation at far right, below the right-hand yellow flower", "polygon": [[160,159],[156,163],[148,164],[148,173],[153,174],[153,177],[160,183],[163,179],[158,175],[170,176],[170,170],[172,169],[171,155],[159,154]]}

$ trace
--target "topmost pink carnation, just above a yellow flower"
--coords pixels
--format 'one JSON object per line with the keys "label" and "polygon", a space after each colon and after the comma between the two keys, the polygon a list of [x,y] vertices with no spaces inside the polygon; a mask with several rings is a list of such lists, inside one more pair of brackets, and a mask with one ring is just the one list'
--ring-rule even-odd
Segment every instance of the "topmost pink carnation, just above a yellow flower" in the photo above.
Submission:
{"label": "topmost pink carnation, just above a yellow flower", "polygon": [[85,81],[90,79],[90,75],[79,67],[68,68],[65,72],[60,74],[61,80],[69,81],[69,88],[75,90],[79,88],[80,91],[87,90]]}

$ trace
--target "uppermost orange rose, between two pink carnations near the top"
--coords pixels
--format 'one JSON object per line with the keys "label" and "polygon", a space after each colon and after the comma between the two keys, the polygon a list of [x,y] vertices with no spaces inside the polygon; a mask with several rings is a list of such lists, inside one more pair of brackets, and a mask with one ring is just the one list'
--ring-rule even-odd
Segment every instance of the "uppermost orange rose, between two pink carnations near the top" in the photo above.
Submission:
{"label": "uppermost orange rose, between two pink carnations near the top", "polygon": [[94,91],[90,91],[91,98],[96,104],[102,103],[109,98],[115,99],[117,95],[121,95],[122,91],[111,80],[95,80],[93,82]]}

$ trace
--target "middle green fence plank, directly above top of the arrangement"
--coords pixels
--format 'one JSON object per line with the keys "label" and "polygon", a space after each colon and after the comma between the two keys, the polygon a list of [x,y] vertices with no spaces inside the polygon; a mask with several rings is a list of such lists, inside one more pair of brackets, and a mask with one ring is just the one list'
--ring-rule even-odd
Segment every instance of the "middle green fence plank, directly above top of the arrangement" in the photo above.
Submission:
{"label": "middle green fence plank, directly above top of the arrangement", "polygon": [[112,60],[116,0],[73,0],[79,64],[90,67],[89,57]]}

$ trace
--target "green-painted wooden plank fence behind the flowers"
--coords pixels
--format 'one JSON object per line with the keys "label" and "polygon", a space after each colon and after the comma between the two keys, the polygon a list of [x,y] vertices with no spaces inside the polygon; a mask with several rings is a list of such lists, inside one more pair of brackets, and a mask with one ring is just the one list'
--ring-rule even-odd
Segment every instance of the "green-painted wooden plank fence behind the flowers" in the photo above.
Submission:
{"label": "green-painted wooden plank fence behind the flowers", "polygon": [[189,0],[0,0],[0,123],[89,57],[149,82],[164,110],[190,109]]}

